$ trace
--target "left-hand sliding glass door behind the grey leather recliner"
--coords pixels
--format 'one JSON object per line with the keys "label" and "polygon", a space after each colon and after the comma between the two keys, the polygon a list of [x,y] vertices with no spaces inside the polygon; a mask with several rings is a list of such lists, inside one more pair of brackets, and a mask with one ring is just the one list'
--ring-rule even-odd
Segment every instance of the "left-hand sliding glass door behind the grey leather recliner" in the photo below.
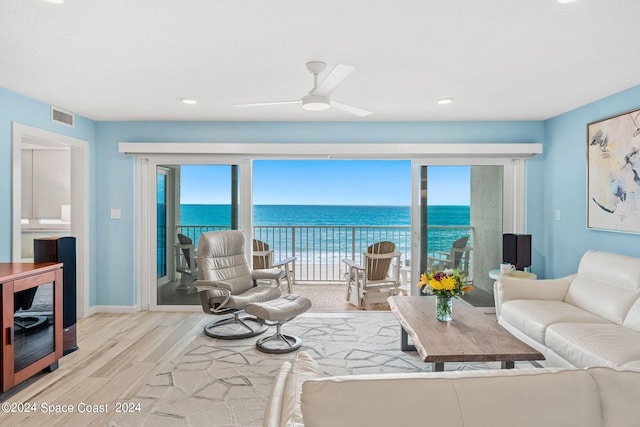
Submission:
{"label": "left-hand sliding glass door behind the grey leather recliner", "polygon": [[156,305],[200,304],[198,240],[207,231],[238,228],[238,182],[237,165],[157,166]]}

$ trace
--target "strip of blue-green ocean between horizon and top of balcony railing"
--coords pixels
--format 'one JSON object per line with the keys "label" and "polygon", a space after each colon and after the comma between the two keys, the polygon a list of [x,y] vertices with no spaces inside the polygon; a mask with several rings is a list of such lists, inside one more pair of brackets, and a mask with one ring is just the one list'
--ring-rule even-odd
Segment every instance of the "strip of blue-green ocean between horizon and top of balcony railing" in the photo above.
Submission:
{"label": "strip of blue-green ocean between horizon and top of balcony railing", "polygon": [[[180,225],[229,226],[230,205],[180,205]],[[468,226],[469,206],[428,206],[431,226]],[[256,205],[253,224],[394,226],[411,225],[409,206]]]}

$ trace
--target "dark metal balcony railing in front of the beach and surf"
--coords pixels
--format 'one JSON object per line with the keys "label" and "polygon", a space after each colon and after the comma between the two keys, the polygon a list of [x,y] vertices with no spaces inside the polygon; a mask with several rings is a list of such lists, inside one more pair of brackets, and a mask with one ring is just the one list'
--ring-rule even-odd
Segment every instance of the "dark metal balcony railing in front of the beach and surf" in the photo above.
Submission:
{"label": "dark metal balcony railing in front of the beach and surf", "polygon": [[[178,225],[176,233],[189,236],[197,246],[200,234],[228,230],[221,225]],[[428,227],[429,253],[449,251],[452,243],[471,235],[470,226]],[[388,240],[402,253],[401,262],[411,259],[411,227],[409,226],[279,226],[253,227],[255,239],[267,243],[273,259],[297,257],[296,281],[339,281],[345,273],[342,258],[360,263],[362,253],[375,242]]]}

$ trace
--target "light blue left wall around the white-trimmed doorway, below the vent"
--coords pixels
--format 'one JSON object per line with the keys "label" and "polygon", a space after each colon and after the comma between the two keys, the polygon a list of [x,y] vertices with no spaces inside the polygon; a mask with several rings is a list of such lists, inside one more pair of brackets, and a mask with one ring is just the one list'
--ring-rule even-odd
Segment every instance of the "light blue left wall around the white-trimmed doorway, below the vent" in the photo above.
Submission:
{"label": "light blue left wall around the white-trimmed doorway, below the vent", "polygon": [[[82,139],[89,142],[90,168],[95,163],[93,145],[95,142],[95,122],[82,116],[75,116],[75,126],[69,127],[51,121],[50,105],[0,87],[0,262],[11,261],[11,126],[13,122],[34,128]],[[93,175],[91,175],[93,176]],[[92,179],[93,181],[93,179]],[[95,191],[89,184],[91,195],[90,215],[93,212]],[[95,231],[90,221],[90,257],[95,254]],[[95,280],[89,278],[93,285]],[[92,292],[95,294],[95,292]]]}

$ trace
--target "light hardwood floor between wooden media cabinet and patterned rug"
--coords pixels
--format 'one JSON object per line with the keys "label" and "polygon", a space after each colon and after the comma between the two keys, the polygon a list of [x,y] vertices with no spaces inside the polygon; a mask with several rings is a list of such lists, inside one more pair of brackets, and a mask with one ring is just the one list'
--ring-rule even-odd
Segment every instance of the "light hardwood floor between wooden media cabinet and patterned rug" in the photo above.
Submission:
{"label": "light hardwood floor between wooden media cabinet and patterned rug", "polygon": [[[157,367],[201,334],[211,320],[208,317],[202,312],[140,312],[80,319],[79,350],[63,357],[56,371],[39,374],[0,395],[4,403],[0,425],[108,425],[118,404],[127,402]],[[20,413],[7,413],[6,403],[27,404],[31,412],[15,405],[13,409],[22,409]],[[84,405],[102,405],[96,409],[106,411],[79,413],[86,410]],[[55,411],[71,408],[74,413],[47,414],[50,407]]]}

